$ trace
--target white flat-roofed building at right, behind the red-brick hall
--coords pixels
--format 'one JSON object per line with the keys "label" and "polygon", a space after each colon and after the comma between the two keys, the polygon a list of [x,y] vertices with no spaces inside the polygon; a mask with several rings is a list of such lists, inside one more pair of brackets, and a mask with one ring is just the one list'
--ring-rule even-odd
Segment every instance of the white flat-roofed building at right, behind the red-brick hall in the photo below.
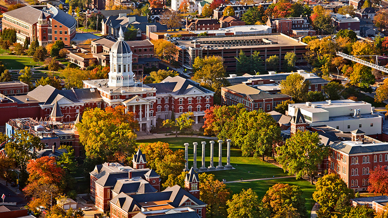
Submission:
{"label": "white flat-roofed building at right, behind the red-brick hall", "polygon": [[382,133],[383,117],[364,101],[346,99],[290,104],[288,115],[294,116],[298,108],[310,126],[328,125],[342,132],[359,129],[365,135]]}

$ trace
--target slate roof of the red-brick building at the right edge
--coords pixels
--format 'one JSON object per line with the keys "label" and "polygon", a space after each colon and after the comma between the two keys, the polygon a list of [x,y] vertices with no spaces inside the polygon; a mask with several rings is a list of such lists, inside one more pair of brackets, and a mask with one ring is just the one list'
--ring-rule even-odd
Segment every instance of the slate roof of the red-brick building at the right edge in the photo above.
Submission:
{"label": "slate roof of the red-brick building at the right edge", "polygon": [[349,155],[388,151],[388,143],[362,144],[355,141],[340,141],[330,147]]}

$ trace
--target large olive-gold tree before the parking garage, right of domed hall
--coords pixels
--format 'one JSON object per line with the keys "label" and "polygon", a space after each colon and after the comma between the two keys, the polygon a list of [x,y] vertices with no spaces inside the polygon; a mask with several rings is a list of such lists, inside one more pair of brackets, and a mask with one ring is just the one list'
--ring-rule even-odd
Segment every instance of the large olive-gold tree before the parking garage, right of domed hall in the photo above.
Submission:
{"label": "large olive-gold tree before the parking garage, right of domed hall", "polygon": [[221,93],[221,87],[227,86],[229,82],[225,79],[224,60],[220,56],[205,56],[205,58],[196,57],[193,64],[193,80],[199,82],[218,95]]}

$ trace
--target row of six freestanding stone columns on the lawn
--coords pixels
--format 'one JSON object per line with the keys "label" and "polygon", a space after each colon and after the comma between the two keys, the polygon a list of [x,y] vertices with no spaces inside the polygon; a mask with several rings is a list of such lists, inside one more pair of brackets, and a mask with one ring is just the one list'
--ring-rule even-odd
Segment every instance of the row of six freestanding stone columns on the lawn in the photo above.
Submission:
{"label": "row of six freestanding stone columns on the lawn", "polygon": [[[224,169],[232,169],[232,165],[230,165],[230,143],[232,140],[228,139],[227,142],[227,153],[226,153],[226,165],[222,166],[222,143],[223,140],[218,140],[218,166],[214,167],[214,141],[210,141],[210,166],[205,166],[205,149],[206,149],[206,141],[202,141],[202,166],[197,168],[197,142],[193,142],[194,146],[194,161],[193,161],[193,169],[195,171],[214,171],[214,170],[224,170]],[[184,143],[185,146],[185,169],[184,171],[189,171],[189,143]]]}

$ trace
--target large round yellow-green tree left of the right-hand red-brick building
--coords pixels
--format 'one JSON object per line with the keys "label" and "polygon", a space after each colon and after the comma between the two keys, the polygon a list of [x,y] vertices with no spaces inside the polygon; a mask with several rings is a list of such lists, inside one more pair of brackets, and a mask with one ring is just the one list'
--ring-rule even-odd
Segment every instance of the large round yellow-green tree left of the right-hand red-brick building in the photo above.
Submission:
{"label": "large round yellow-green tree left of the right-hand red-brick building", "polygon": [[318,164],[329,154],[328,147],[321,145],[317,132],[299,130],[276,150],[279,152],[276,160],[283,166],[284,172],[295,174],[297,179],[307,174],[310,176],[311,184],[313,172],[318,170]]}

